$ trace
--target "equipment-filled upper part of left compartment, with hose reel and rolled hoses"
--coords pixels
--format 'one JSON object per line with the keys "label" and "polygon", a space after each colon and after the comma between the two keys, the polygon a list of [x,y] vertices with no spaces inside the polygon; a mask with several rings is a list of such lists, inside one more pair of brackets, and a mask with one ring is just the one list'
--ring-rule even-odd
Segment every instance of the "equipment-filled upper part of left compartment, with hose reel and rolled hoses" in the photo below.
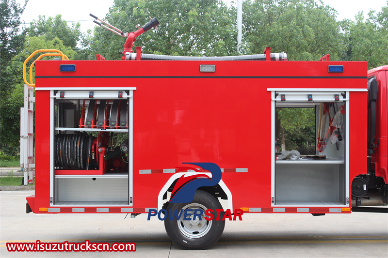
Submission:
{"label": "equipment-filled upper part of left compartment, with hose reel and rolled hoses", "polygon": [[127,99],[54,101],[56,175],[128,173]]}

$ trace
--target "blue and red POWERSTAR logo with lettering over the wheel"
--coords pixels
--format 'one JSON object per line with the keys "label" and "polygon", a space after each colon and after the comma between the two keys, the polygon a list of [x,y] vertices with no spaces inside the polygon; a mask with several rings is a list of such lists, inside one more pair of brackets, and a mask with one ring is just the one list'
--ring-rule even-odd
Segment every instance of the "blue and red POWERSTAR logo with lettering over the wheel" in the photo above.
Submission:
{"label": "blue and red POWERSTAR logo with lettering over the wheel", "polygon": [[[182,164],[190,164],[194,166],[201,167],[204,170],[208,170],[211,173],[211,178],[206,174],[194,174],[192,176],[182,175],[177,183],[175,184],[173,191],[170,197],[170,203],[190,203],[194,199],[195,191],[202,186],[214,186],[221,181],[222,171],[221,168],[218,167],[217,164],[214,163],[182,163]],[[177,167],[178,171],[186,171],[186,170],[194,170],[195,172],[200,172],[198,168],[195,167]],[[170,220],[176,218],[180,220],[183,215],[183,220],[213,220],[214,216],[216,220],[225,220],[228,218],[229,220],[236,220],[239,217],[239,220],[242,220],[242,214],[244,212],[241,209],[234,210],[234,216],[232,218],[232,213],[230,209],[226,211],[222,209],[207,209],[206,211],[201,209],[188,209],[188,210],[171,210],[168,211],[166,209],[162,209],[159,212],[155,209],[150,209],[148,211],[148,218],[150,220],[151,216],[158,216],[159,220],[165,220],[167,217]],[[221,216],[222,214],[222,216]]]}

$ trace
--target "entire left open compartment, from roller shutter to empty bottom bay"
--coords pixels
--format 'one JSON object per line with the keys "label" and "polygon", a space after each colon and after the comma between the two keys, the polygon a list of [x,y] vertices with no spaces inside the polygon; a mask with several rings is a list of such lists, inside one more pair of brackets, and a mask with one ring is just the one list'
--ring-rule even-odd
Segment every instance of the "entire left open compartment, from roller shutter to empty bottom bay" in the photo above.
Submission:
{"label": "entire left open compartment, from roller shutter to empty bottom bay", "polygon": [[54,205],[129,205],[132,91],[54,91]]}

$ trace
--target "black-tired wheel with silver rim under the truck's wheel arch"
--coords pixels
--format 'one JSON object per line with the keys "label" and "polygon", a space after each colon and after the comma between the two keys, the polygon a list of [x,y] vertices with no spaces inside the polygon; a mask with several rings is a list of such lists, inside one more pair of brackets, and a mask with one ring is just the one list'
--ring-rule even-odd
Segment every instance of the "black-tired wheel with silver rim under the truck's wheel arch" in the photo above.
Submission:
{"label": "black-tired wheel with silver rim under the truck's wheel arch", "polygon": [[[173,212],[174,210],[180,211],[183,209],[202,209],[205,215],[207,209],[215,211],[215,209],[222,209],[222,206],[216,197],[202,190],[195,192],[191,203],[170,203],[167,206],[167,218],[164,220],[164,228],[170,239],[183,249],[208,249],[220,239],[224,232],[225,220],[221,220],[223,214],[220,216],[220,220],[217,221],[216,212],[212,212],[213,220],[207,221],[202,218],[199,222],[194,221],[193,224],[195,225],[192,225],[193,221],[182,221],[183,212],[179,221],[176,217],[171,220],[170,209]],[[189,228],[189,224],[193,228]]]}

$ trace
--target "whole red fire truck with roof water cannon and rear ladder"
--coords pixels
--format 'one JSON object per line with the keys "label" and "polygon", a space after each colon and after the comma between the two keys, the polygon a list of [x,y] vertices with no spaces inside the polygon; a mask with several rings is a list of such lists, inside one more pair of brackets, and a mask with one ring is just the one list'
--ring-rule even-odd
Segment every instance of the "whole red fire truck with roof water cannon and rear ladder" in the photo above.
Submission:
{"label": "whole red fire truck with roof water cannon and rear ladder", "polygon": [[[187,249],[215,243],[229,211],[387,212],[365,206],[388,203],[388,66],[368,72],[367,62],[329,56],[287,61],[270,48],[214,58],[132,53],[136,36],[156,24],[123,33],[105,23],[127,37],[122,61],[68,61],[56,51],[31,64],[30,82],[24,74],[26,184],[35,170],[27,212],[158,212]],[[46,55],[60,60],[40,60]],[[276,110],[299,107],[316,114],[317,155],[280,160]],[[200,184],[191,202],[172,203],[185,184],[213,181],[215,172],[201,164],[219,167],[219,181]],[[187,219],[169,219],[172,209],[188,210]],[[203,220],[195,209],[222,210],[222,219]]]}

